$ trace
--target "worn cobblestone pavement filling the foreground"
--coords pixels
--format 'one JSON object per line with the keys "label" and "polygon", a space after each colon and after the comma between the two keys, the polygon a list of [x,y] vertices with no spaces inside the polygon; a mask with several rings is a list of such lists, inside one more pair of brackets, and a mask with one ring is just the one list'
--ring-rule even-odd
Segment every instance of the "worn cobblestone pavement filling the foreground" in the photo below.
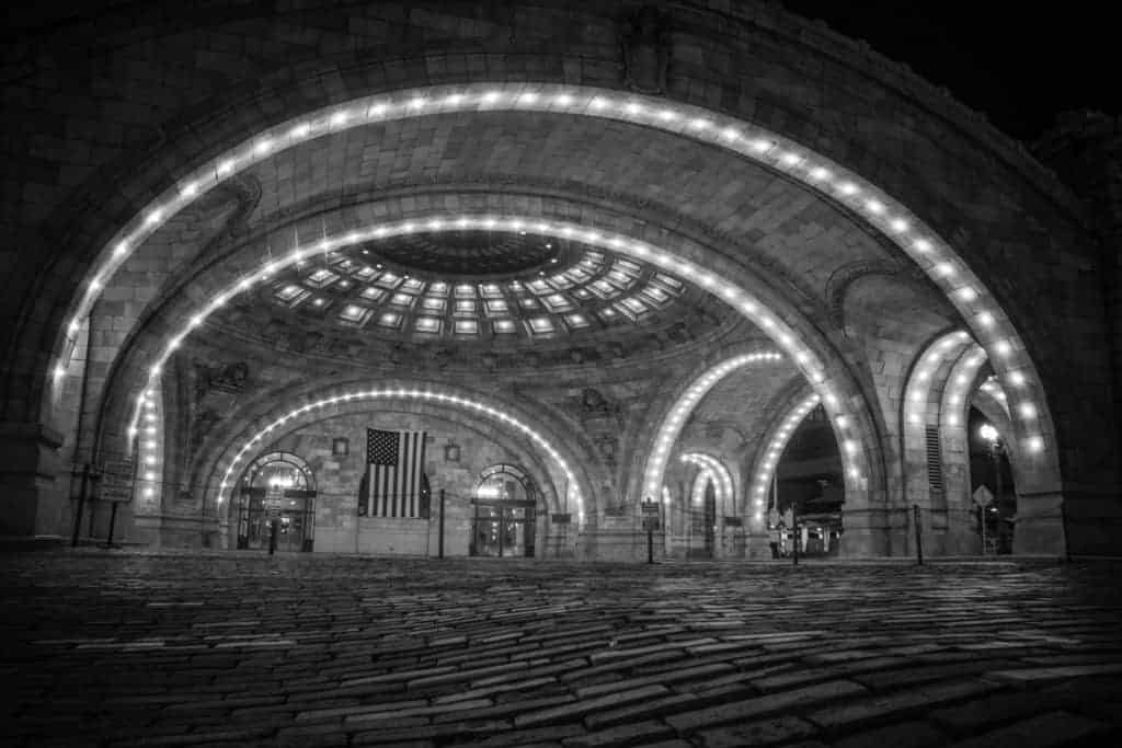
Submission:
{"label": "worn cobblestone pavement filling the foreground", "polygon": [[1107,564],[0,556],[4,745],[1119,745]]}

